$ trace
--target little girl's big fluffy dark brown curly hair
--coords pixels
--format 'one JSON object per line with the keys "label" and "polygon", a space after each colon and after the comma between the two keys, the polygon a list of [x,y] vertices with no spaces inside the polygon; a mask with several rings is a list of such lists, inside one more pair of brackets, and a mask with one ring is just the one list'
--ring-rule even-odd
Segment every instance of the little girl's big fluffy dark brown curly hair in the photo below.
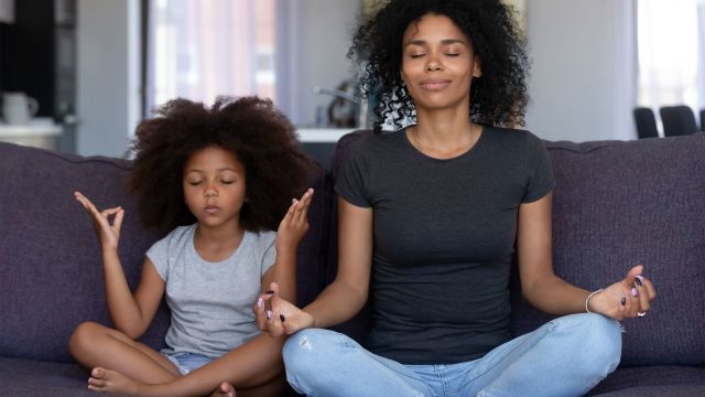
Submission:
{"label": "little girl's big fluffy dark brown curly hair", "polygon": [[220,97],[209,109],[174,99],[137,127],[130,190],[142,224],[161,232],[196,222],[184,201],[183,173],[196,152],[218,147],[235,153],[246,172],[247,201],[240,223],[275,230],[315,170],[302,153],[294,127],[269,99]]}

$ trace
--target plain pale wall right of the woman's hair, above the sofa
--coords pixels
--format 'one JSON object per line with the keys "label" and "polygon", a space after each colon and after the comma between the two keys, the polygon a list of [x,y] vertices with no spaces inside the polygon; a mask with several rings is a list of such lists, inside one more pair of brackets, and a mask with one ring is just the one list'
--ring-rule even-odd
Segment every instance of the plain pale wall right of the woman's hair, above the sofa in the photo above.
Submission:
{"label": "plain pale wall right of the woman's hair, above the sofa", "polygon": [[532,103],[549,140],[636,139],[634,0],[525,2]]}

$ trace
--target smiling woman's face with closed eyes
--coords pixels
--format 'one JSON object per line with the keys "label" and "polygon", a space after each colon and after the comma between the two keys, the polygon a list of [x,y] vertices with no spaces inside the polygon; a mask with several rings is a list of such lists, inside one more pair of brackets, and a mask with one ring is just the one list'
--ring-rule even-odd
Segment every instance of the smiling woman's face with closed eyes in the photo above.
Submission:
{"label": "smiling woman's face with closed eyes", "polygon": [[469,108],[470,82],[479,76],[473,43],[448,17],[430,13],[409,24],[401,77],[416,109]]}

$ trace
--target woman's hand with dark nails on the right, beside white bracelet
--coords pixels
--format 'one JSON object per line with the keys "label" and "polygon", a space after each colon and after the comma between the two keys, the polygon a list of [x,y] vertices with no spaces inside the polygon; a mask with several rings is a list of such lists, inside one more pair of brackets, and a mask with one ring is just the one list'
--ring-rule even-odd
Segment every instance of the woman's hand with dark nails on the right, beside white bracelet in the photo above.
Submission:
{"label": "woman's hand with dark nails on the right, beside white bracelet", "polygon": [[615,320],[646,315],[657,292],[651,281],[641,276],[642,270],[641,265],[631,268],[621,281],[595,294],[588,309]]}

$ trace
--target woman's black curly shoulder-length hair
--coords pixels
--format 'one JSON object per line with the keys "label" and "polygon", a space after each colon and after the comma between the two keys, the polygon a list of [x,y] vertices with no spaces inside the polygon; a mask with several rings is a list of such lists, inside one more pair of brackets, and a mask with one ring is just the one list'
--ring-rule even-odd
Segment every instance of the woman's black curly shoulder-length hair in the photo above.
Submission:
{"label": "woman's black curly shoulder-length hair", "polygon": [[529,62],[514,10],[499,0],[391,0],[364,20],[348,57],[364,64],[364,95],[378,95],[375,129],[389,117],[395,127],[414,118],[414,103],[401,78],[406,28],[427,13],[448,17],[471,41],[482,76],[470,88],[470,119],[490,126],[524,124]]}

